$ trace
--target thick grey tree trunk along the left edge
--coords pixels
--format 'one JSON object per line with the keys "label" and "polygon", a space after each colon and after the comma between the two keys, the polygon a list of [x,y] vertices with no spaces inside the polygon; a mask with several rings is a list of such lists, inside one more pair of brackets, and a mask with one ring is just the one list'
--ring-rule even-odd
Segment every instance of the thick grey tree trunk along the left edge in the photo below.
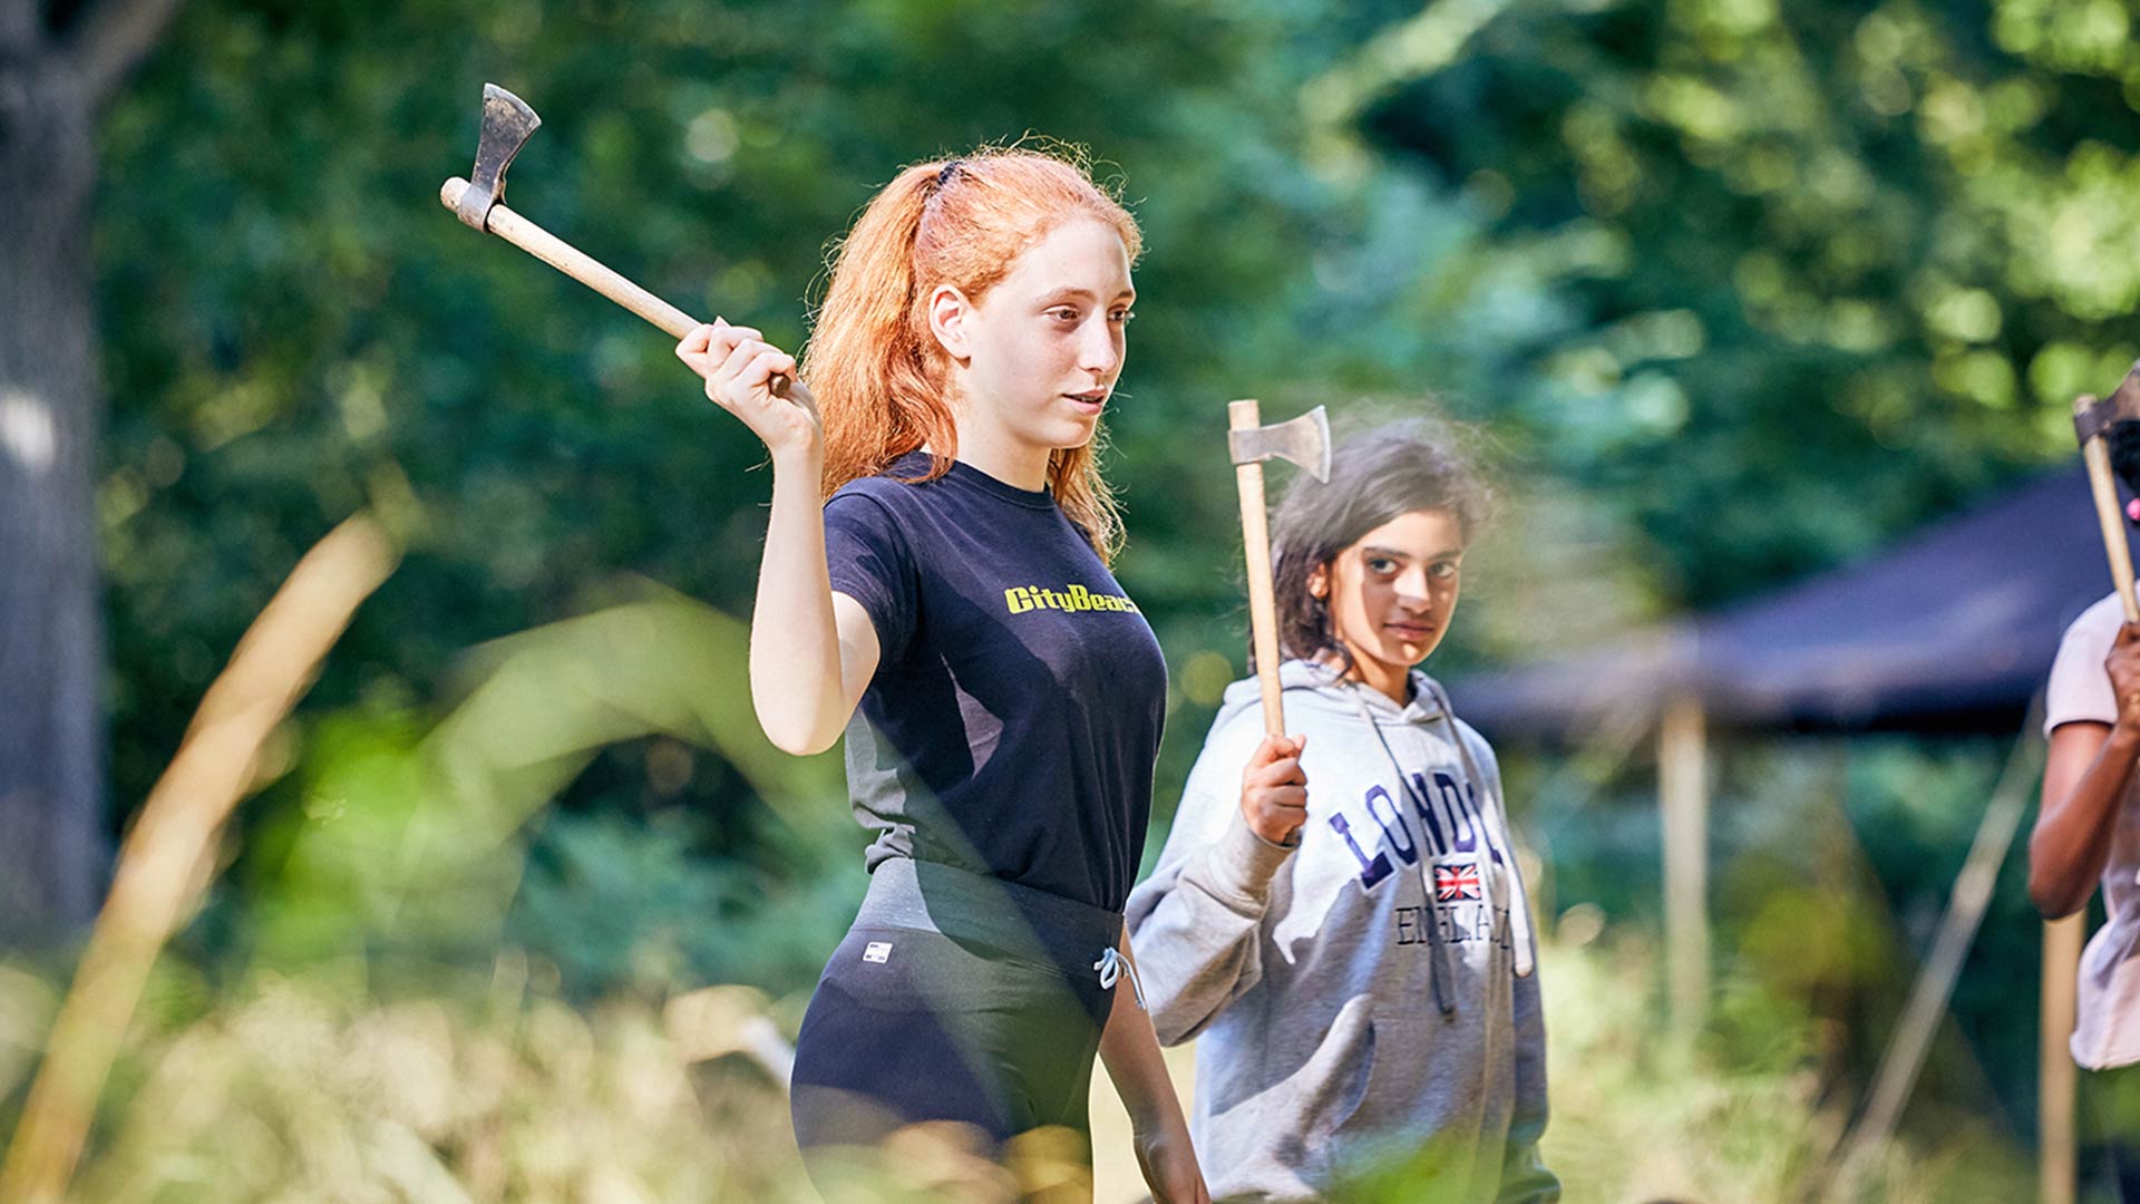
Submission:
{"label": "thick grey tree trunk along the left edge", "polygon": [[92,103],[39,4],[0,0],[0,945],[103,896]]}

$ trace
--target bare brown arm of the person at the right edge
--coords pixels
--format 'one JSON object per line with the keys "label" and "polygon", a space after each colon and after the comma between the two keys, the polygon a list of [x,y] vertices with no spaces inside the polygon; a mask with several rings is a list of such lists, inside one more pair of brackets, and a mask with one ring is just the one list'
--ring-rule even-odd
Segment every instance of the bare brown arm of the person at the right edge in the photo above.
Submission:
{"label": "bare brown arm of the person at the right edge", "polygon": [[2119,630],[2104,668],[2116,722],[2069,722],[2050,733],[2042,810],[2029,836],[2029,898],[2046,919],[2086,906],[2110,861],[2119,806],[2140,763],[2140,623]]}

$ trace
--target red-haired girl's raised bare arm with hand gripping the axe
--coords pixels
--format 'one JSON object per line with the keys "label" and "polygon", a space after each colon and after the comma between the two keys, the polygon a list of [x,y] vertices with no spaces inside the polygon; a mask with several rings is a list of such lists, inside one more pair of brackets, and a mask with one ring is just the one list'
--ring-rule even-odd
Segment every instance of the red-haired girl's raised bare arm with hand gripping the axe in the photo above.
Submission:
{"label": "red-haired girl's raised bare arm with hand gripping the axe", "polygon": [[[751,707],[766,737],[794,754],[824,752],[845,731],[877,671],[877,628],[862,604],[832,593],[824,561],[824,431],[792,356],[747,326],[715,321],[676,356],[706,377],[706,396],[764,439],[773,516],[751,611]],[[794,383],[785,398],[768,381]]]}

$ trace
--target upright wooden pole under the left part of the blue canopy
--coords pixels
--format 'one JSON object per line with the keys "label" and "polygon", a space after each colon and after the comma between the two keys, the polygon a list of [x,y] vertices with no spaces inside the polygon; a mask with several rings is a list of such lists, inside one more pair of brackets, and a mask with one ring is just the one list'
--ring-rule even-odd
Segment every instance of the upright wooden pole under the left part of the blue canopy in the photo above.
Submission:
{"label": "upright wooden pole under the left part of the blue canopy", "polygon": [[1699,694],[1665,705],[1656,731],[1656,801],[1665,829],[1665,975],[1671,1033],[1693,1037],[1708,1022],[1708,737]]}

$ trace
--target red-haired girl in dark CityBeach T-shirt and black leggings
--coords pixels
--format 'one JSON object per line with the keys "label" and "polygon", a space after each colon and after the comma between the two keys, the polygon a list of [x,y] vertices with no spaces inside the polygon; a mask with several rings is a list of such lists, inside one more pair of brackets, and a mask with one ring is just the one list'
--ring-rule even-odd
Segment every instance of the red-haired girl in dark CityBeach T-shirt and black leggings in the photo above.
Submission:
{"label": "red-haired girl in dark CityBeach T-shirt and black leggings", "polygon": [[796,1043],[805,1148],[1083,1135],[1100,1056],[1153,1195],[1207,1198],[1121,928],[1166,666],[1109,572],[1094,435],[1138,246],[1072,161],[922,163],[847,234],[800,373],[719,321],[676,347],[773,456],[758,718],[798,754],[845,733],[875,833]]}

